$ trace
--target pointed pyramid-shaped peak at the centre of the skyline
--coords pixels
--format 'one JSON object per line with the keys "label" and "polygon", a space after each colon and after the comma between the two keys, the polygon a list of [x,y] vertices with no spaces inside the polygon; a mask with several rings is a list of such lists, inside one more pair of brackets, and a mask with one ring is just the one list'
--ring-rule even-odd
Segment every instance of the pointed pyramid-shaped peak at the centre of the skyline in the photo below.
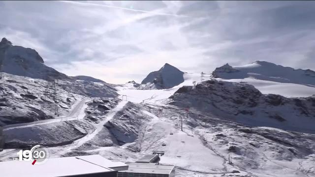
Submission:
{"label": "pointed pyramid-shaped peak at the centre of the skyline", "polygon": [[184,72],[165,63],[158,71],[151,72],[142,82],[139,89],[170,89],[184,82]]}

